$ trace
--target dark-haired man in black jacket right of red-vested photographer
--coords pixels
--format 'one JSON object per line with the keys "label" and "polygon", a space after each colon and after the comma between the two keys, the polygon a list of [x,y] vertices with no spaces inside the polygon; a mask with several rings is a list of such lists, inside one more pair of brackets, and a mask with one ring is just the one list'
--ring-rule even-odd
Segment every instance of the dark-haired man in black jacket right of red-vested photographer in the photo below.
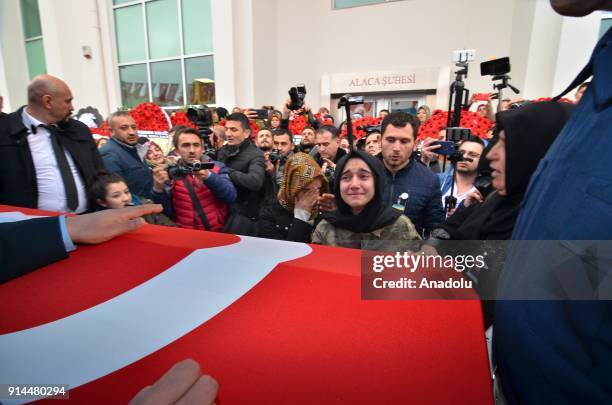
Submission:
{"label": "dark-haired man in black jacket right of red-vested photographer", "polygon": [[265,180],[264,154],[251,140],[249,119],[242,113],[233,113],[225,123],[224,145],[217,152],[218,160],[225,163],[238,196],[230,205],[225,231],[245,236],[257,236],[260,190]]}

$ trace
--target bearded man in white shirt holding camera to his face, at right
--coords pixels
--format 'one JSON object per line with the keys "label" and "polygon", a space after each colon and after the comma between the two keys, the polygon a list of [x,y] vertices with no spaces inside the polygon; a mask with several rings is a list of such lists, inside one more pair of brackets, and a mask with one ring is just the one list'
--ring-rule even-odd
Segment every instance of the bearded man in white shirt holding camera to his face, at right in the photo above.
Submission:
{"label": "bearded man in white shirt holding camera to his face, at right", "polygon": [[[474,180],[478,175],[478,162],[484,150],[484,142],[478,137],[470,137],[459,146],[459,150],[463,152],[463,156],[469,160],[457,162],[457,176],[453,187],[453,197],[457,199],[456,207],[461,205],[463,200],[470,193],[478,193],[474,187]],[[440,179],[440,190],[442,192],[442,206],[445,206],[446,197],[450,196],[451,184],[453,182],[453,167],[442,174],[438,174]],[[480,198],[482,199],[482,197]]]}

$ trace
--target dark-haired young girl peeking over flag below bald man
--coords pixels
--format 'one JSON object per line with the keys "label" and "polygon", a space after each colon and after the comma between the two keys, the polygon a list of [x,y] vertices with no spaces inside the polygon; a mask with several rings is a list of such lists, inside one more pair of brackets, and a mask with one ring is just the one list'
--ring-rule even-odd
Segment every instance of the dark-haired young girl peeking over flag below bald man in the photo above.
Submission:
{"label": "dark-haired young girl peeking over flag below bald man", "polygon": [[[96,175],[89,187],[90,207],[94,211],[117,209],[129,205],[151,204],[152,201],[130,193],[123,177],[115,173],[101,172]],[[153,225],[176,226],[164,214],[145,215],[144,220]]]}

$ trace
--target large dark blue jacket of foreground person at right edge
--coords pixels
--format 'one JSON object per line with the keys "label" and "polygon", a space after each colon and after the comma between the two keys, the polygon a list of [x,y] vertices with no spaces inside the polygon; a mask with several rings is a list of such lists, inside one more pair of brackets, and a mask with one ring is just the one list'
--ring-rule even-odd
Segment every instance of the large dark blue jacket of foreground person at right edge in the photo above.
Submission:
{"label": "large dark blue jacket of foreground person at right edge", "polygon": [[[590,64],[591,84],[531,177],[514,228],[512,239],[533,242],[509,252],[500,279],[501,298],[516,287],[556,300],[497,302],[493,341],[509,404],[612,403],[612,301],[562,300],[559,294],[560,286],[597,281],[582,268],[591,264],[592,270],[597,262],[581,251],[591,242],[580,241],[608,241],[609,252],[612,240],[612,30]],[[573,242],[538,248],[545,240]],[[603,260],[608,274],[598,275],[609,280]],[[571,280],[564,280],[567,274]]]}

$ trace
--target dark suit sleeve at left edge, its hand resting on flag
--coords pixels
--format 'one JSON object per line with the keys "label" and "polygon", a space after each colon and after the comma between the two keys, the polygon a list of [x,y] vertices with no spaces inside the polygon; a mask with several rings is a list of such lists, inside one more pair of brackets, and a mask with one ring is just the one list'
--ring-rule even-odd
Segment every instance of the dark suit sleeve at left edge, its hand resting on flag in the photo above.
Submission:
{"label": "dark suit sleeve at left edge, its hand resting on flag", "polygon": [[67,256],[59,217],[0,223],[0,283]]}

